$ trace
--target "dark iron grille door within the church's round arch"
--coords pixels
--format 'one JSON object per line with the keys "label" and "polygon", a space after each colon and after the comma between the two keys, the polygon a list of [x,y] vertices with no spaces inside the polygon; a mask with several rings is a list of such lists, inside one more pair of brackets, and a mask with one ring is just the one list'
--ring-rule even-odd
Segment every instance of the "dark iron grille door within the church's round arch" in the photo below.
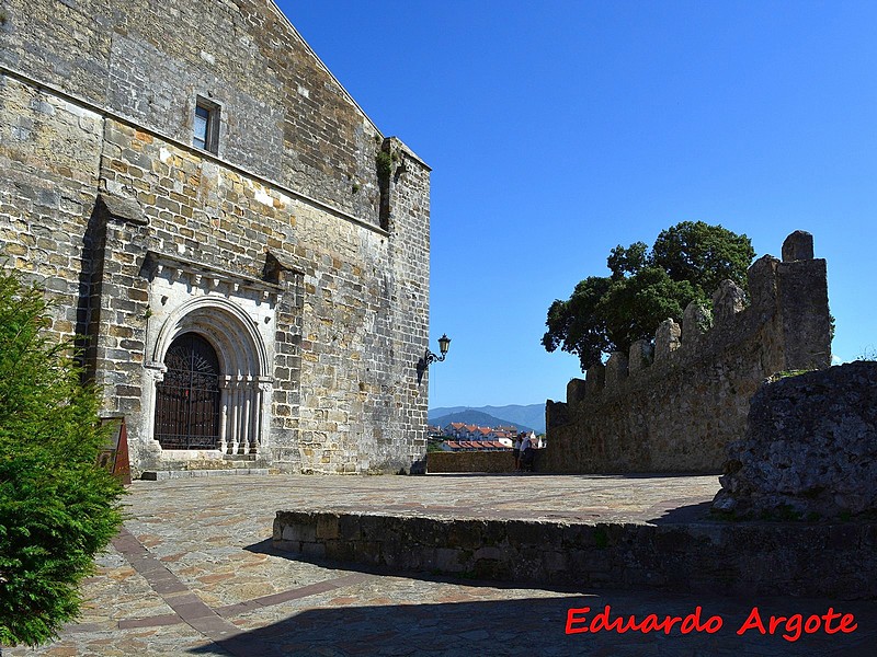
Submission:
{"label": "dark iron grille door within the church's round arch", "polygon": [[156,387],[156,439],[163,449],[219,449],[219,358],[195,333],[171,343]]}

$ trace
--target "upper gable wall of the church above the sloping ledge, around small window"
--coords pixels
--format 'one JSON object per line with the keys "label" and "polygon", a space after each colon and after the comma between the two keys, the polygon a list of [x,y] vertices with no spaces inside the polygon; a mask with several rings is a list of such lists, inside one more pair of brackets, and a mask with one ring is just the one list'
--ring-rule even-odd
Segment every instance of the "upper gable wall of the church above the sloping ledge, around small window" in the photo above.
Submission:
{"label": "upper gable wall of the church above the sloping ledge, around small window", "polygon": [[273,2],[2,0],[0,9],[0,62],[11,70],[183,143],[201,95],[224,108],[223,158],[376,220],[383,136]]}

